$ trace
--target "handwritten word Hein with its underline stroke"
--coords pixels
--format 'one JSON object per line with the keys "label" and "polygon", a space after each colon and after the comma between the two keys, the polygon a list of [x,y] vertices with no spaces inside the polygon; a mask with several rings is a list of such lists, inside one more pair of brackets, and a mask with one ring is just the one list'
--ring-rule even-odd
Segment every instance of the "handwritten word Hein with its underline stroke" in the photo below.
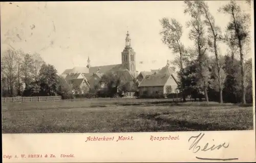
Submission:
{"label": "handwritten word Hein with its underline stroke", "polygon": [[[191,143],[190,147],[189,147],[189,150],[192,150],[193,153],[197,153],[199,150],[201,151],[213,151],[213,150],[219,150],[221,148],[228,148],[229,146],[229,143],[226,144],[226,143],[222,143],[222,144],[219,144],[219,145],[209,145],[209,143],[206,143],[203,146],[200,146],[200,141],[201,139],[204,137],[204,133],[200,133],[199,135],[197,136],[191,136],[189,139],[188,139],[188,142],[190,141],[193,141],[194,139],[194,142]],[[213,139],[214,141],[214,139]],[[197,159],[203,159],[203,160],[234,160],[234,159],[238,159],[238,158],[201,158],[201,157],[196,157]]]}

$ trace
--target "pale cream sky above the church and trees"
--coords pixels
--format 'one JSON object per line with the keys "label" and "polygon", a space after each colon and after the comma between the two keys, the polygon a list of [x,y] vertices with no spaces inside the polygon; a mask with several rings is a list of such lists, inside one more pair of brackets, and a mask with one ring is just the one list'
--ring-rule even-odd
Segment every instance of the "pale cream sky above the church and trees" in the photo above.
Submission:
{"label": "pale cream sky above the church and trees", "polygon": [[[207,1],[222,31],[230,17],[218,9],[226,3]],[[193,44],[184,8],[183,1],[1,3],[1,54],[10,47],[38,53],[58,73],[86,66],[88,57],[92,66],[120,64],[129,31],[137,71],[158,69],[175,56],[161,41],[161,18],[176,18],[183,26],[182,42]],[[221,49],[224,54],[226,47]]]}

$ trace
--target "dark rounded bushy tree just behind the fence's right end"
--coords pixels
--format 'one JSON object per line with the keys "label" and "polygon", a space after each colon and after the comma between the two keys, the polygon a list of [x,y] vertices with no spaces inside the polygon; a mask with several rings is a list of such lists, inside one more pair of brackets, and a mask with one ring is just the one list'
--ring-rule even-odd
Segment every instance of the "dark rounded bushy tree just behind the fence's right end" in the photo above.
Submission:
{"label": "dark rounded bushy tree just behind the fence's right end", "polygon": [[45,96],[55,96],[58,88],[57,70],[53,65],[42,64],[39,70],[40,93]]}

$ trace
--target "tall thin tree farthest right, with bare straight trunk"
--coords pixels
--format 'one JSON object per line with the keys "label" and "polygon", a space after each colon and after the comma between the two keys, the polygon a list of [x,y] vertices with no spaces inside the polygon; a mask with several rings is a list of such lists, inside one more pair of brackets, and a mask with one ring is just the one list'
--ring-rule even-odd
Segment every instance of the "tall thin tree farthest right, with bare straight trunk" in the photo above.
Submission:
{"label": "tall thin tree farthest right, with bare straight trunk", "polygon": [[241,64],[241,85],[242,85],[242,103],[245,104],[245,75],[244,75],[244,48],[250,43],[250,15],[243,12],[235,1],[231,1],[220,9],[223,13],[231,16],[227,30],[233,31],[240,52]]}

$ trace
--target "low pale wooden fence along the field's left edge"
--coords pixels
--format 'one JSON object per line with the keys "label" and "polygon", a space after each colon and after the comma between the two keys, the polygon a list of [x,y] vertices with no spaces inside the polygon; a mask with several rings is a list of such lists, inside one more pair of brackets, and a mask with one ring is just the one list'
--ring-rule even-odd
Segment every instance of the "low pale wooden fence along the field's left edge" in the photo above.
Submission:
{"label": "low pale wooden fence along the field's left edge", "polygon": [[61,96],[2,98],[2,103],[3,102],[55,102],[55,101],[61,101]]}

